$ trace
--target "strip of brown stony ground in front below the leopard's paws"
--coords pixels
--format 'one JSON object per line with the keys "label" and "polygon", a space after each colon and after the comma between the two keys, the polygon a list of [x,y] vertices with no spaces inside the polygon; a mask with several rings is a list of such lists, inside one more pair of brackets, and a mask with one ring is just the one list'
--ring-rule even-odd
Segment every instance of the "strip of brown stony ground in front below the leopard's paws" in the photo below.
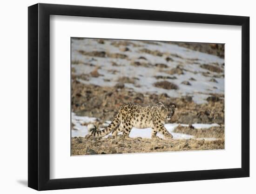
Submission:
{"label": "strip of brown stony ground in front below the leopard's paws", "polygon": [[192,151],[224,149],[224,139],[220,140],[163,140],[146,138],[112,138],[86,139],[83,137],[71,139],[71,155],[92,154],[125,154],[169,151]]}

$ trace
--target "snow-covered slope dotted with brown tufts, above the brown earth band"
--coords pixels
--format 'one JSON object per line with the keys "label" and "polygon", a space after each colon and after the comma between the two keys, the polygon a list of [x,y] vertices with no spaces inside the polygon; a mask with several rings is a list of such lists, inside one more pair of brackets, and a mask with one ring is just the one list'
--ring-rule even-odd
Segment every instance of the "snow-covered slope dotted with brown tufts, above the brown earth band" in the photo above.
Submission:
{"label": "snow-covered slope dotted with brown tufts, above the brown earth band", "polygon": [[[198,104],[206,103],[210,93],[224,94],[224,59],[165,42],[128,40],[126,46],[116,47],[115,43],[119,41],[104,40],[104,44],[100,44],[98,39],[72,39],[72,74],[88,75],[98,67],[100,76],[77,80],[85,84],[112,87],[120,77],[125,76],[135,78],[135,83],[125,83],[125,87],[135,92],[166,93],[171,97],[189,95]],[[121,48],[128,51],[121,51]],[[92,52],[102,52],[102,56],[94,56]],[[115,57],[115,54],[123,56]],[[221,72],[202,68],[205,64],[217,67]],[[176,67],[182,68],[182,74],[168,74]],[[155,82],[162,80],[176,84],[178,89],[154,86]],[[182,84],[183,81],[189,81],[190,85]]]}

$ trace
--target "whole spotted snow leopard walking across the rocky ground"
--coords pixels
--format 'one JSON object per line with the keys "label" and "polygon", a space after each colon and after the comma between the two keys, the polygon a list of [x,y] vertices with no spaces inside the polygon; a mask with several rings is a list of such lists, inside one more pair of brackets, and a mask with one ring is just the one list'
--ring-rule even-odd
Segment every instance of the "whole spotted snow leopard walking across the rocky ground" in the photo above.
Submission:
{"label": "whole spotted snow leopard walking across the rocky ground", "polygon": [[104,137],[112,132],[116,137],[119,132],[123,132],[124,136],[129,136],[132,127],[136,128],[152,128],[152,138],[156,137],[157,132],[163,134],[166,138],[173,138],[164,127],[165,120],[170,120],[175,112],[175,106],[164,105],[158,102],[154,106],[143,106],[135,103],[122,105],[114,120],[107,128],[99,131],[95,126],[88,126],[89,136]]}

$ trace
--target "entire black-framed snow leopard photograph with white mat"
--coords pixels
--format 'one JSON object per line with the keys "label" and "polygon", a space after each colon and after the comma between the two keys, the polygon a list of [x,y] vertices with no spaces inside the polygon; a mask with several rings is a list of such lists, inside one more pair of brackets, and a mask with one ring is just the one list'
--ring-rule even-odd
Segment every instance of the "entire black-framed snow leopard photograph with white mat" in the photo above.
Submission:
{"label": "entire black-framed snow leopard photograph with white mat", "polygon": [[249,176],[249,17],[28,7],[28,187]]}

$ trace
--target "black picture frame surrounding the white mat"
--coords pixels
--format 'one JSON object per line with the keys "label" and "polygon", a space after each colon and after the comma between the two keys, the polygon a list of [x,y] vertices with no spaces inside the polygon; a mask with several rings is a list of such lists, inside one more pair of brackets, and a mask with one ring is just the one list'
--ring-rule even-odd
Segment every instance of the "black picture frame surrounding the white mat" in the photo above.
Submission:
{"label": "black picture frame surrounding the white mat", "polygon": [[[242,167],[218,170],[53,179],[50,177],[50,15],[242,26]],[[110,7],[36,4],[28,7],[28,187],[102,187],[249,176],[249,17]]]}

